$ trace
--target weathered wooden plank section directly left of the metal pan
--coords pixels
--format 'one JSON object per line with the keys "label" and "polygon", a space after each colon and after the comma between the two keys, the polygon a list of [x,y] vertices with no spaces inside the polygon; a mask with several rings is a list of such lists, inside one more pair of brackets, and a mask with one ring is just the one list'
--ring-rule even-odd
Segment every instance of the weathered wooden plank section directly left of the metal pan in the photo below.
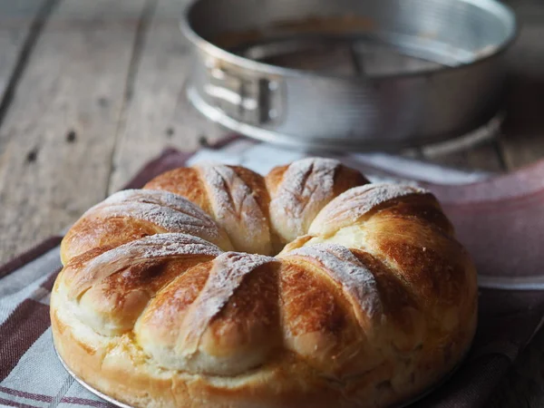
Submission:
{"label": "weathered wooden plank section directly left of the metal pan", "polygon": [[132,98],[121,122],[110,192],[121,189],[145,161],[165,147],[192,151],[202,136],[214,140],[222,133],[202,119],[185,98],[190,53],[179,28],[183,3],[160,0],[157,5]]}

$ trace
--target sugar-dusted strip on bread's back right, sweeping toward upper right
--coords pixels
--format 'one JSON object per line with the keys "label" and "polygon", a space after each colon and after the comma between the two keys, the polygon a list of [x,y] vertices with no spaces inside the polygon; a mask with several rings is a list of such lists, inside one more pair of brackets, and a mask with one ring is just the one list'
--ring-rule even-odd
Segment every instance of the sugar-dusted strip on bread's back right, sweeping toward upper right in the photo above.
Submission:
{"label": "sugar-dusted strip on bread's back right, sweeping toward upper right", "polygon": [[310,234],[328,234],[361,219],[374,207],[391,199],[413,194],[426,194],[425,189],[403,184],[365,184],[348,189],[329,202],[309,228]]}

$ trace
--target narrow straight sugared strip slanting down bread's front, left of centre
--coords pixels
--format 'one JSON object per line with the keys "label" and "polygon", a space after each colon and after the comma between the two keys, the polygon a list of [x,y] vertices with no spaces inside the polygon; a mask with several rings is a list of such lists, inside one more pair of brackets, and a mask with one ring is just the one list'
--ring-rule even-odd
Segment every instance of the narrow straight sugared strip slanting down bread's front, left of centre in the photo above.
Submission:
{"label": "narrow straight sugared strip slanting down bread's front, left of centre", "polygon": [[257,267],[274,261],[273,257],[238,252],[226,252],[217,257],[206,285],[183,319],[180,333],[185,335],[180,337],[178,351],[189,355],[195,353],[209,322],[227,304],[243,278]]}

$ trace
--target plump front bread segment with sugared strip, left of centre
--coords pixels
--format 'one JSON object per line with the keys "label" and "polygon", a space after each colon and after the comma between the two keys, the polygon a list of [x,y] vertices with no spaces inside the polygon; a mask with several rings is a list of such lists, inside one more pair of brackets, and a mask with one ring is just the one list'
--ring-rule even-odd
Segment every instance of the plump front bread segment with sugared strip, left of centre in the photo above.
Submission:
{"label": "plump front bread segment with sugared strip, left of centre", "polygon": [[[160,366],[191,374],[235,375],[263,364],[279,343],[274,271],[267,266],[275,261],[228,252],[189,270],[141,316],[135,333],[142,349]],[[189,281],[198,295],[188,292]],[[248,292],[256,298],[245,299]]]}

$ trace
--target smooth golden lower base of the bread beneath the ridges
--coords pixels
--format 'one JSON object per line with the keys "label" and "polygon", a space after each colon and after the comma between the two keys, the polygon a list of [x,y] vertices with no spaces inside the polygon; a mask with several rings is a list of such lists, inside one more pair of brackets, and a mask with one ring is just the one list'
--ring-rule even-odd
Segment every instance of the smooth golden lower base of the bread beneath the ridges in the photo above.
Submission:
{"label": "smooth golden lower base of the bread beneath the ridges", "polygon": [[[173,372],[147,364],[147,357],[130,335],[121,335],[113,341],[92,332],[69,308],[59,307],[62,297],[55,296],[56,302],[51,307],[57,354],[78,382],[122,407],[347,408],[362,406],[364,400],[368,402],[364,406],[368,407],[399,407],[431,392],[455,368],[442,367],[445,370],[437,374],[434,385],[429,386],[428,381],[412,385],[409,393],[368,393],[367,399],[362,399],[364,390],[348,396],[345,388],[335,389],[325,379],[317,379],[311,368],[288,355],[277,364],[258,367],[254,373],[234,378]],[[72,365],[64,363],[68,361]],[[399,402],[402,404],[396,405]]]}

